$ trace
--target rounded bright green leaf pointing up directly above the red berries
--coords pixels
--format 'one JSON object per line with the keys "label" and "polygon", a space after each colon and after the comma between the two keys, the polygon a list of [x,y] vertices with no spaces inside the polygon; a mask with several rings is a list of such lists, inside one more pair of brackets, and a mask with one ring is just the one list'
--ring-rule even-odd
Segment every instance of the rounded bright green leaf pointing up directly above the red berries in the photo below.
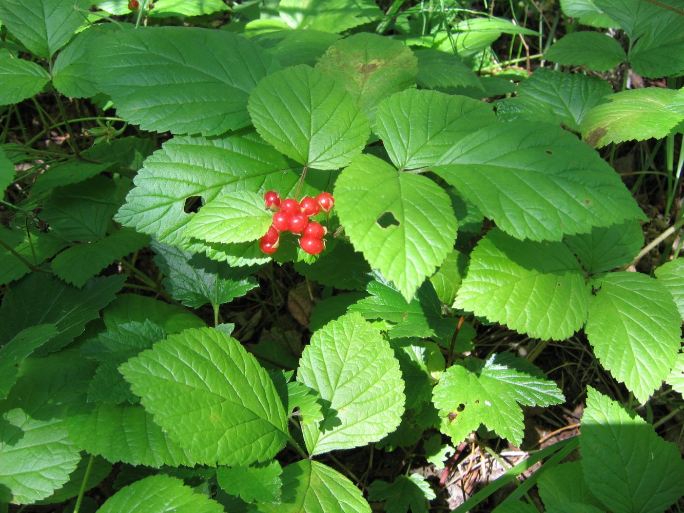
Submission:
{"label": "rounded bright green leaf pointing up directly above the red berries", "polygon": [[368,122],[349,94],[303,64],[259,82],[248,110],[265,141],[313,169],[346,166],[370,135]]}

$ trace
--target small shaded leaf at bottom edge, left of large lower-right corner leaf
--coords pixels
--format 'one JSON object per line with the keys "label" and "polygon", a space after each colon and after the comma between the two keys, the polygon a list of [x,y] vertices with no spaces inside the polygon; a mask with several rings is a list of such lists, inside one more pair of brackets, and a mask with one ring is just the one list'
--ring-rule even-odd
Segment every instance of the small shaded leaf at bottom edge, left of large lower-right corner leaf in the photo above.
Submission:
{"label": "small shaded leaf at bottom edge, left of large lower-right corner leaf", "polygon": [[[603,512],[603,504],[594,497],[584,478],[579,461],[562,463],[544,469],[539,476],[539,495],[547,510],[564,512],[562,508],[573,506],[575,511]],[[568,512],[569,513],[569,512]]]}

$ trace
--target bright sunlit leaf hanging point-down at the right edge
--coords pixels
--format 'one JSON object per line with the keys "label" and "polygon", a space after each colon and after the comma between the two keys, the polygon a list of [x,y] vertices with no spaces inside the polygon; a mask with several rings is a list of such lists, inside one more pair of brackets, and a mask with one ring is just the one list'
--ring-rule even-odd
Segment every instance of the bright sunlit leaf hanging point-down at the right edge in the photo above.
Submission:
{"label": "bright sunlit leaf hanging point-down at the right edge", "polygon": [[584,328],[594,354],[645,403],[670,373],[681,347],[681,317],[657,280],[635,272],[594,278]]}

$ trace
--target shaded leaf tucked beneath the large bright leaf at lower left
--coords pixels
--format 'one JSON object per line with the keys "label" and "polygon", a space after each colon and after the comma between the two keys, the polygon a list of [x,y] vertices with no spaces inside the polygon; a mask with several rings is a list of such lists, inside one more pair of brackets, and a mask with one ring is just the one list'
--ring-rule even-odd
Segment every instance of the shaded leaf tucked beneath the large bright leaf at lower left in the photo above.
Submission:
{"label": "shaded leaf tucked beneath the large bright leaf at lower left", "polygon": [[67,420],[71,439],[109,462],[155,468],[196,463],[140,404],[92,404],[89,412],[80,412]]}

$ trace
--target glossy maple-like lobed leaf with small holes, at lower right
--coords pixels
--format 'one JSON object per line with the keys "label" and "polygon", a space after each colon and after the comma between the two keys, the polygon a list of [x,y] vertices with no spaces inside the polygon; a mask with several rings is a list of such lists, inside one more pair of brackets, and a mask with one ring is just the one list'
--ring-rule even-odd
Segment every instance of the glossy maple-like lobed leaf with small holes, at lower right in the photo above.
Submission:
{"label": "glossy maple-like lobed leaf with small holes, at lower right", "polygon": [[523,406],[564,402],[556,384],[527,360],[510,353],[487,360],[457,360],[434,387],[440,430],[460,443],[480,423],[515,445],[523,441]]}

